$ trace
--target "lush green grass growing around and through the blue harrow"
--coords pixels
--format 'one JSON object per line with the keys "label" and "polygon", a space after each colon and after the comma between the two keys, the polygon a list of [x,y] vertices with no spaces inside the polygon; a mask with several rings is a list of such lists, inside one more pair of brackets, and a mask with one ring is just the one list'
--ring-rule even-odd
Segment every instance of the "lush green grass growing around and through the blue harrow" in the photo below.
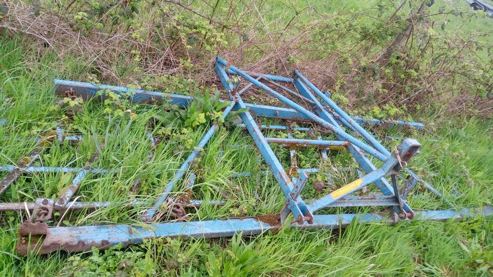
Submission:
{"label": "lush green grass growing around and through the blue harrow", "polygon": [[[321,2],[299,3],[332,11],[365,8],[355,2],[337,2],[327,6]],[[271,3],[268,16],[289,18],[280,2]],[[320,6],[318,6],[320,5]],[[325,5],[325,6],[324,6]],[[368,4],[371,7],[371,3]],[[269,19],[269,17],[266,17]],[[306,17],[307,21],[312,20]],[[452,25],[450,25],[452,26]],[[459,27],[458,27],[459,28]],[[462,27],[461,27],[462,28]],[[50,109],[55,102],[53,78],[87,81],[93,68],[80,57],[58,57],[55,52],[37,52],[24,39],[0,37],[0,164],[15,164],[35,147],[31,140],[17,139],[37,136],[64,124],[70,133],[81,134],[79,145],[53,143],[36,165],[83,167],[87,159],[99,152],[93,166],[116,170],[116,174],[89,175],[82,182],[77,196],[80,201],[115,201],[156,197],[173,177],[187,151],[178,151],[179,143],[159,144],[151,162],[146,132],[157,136],[159,125],[149,124],[162,109],[152,105],[132,105],[137,115],[107,118],[102,103],[84,103],[81,114],[73,121],[62,120],[61,112]],[[172,90],[172,84],[159,84],[156,90]],[[8,99],[7,99],[8,98]],[[422,153],[412,159],[410,168],[444,194],[454,208],[492,205],[493,191],[493,122],[478,118],[439,118],[414,115],[425,121],[431,132],[403,134],[399,130],[381,130],[388,149],[399,144],[385,140],[385,135],[409,135],[423,144]],[[267,123],[262,121],[262,123]],[[128,126],[128,129],[126,129]],[[197,143],[205,132],[197,128],[191,137]],[[285,136],[266,132],[268,136]],[[297,134],[297,136],[303,136]],[[330,139],[330,136],[323,135]],[[5,138],[8,137],[8,138]],[[432,142],[430,139],[438,139]],[[100,144],[98,150],[96,144]],[[236,145],[245,147],[237,148]],[[218,158],[223,150],[222,158]],[[281,163],[289,168],[289,151],[275,148]],[[318,167],[318,153],[313,149],[297,152],[304,167]],[[188,210],[189,220],[207,220],[232,216],[254,216],[276,213],[282,208],[283,194],[271,175],[258,174],[266,170],[258,165],[260,155],[244,130],[221,127],[208,142],[204,155],[189,173],[198,178],[193,187],[193,199],[227,199],[226,206],[203,206]],[[218,162],[220,160],[220,162]],[[145,164],[145,165],[143,165]],[[323,165],[330,171],[335,166],[355,166],[348,153],[330,153]],[[235,172],[253,172],[249,178],[232,178]],[[0,173],[0,178],[5,173]],[[39,197],[57,198],[57,192],[72,176],[60,173],[23,175],[0,201],[32,201]],[[327,190],[351,181],[350,174],[334,176],[335,184]],[[136,194],[129,194],[132,182],[142,179]],[[186,178],[184,178],[186,180]],[[182,180],[172,193],[185,194]],[[257,188],[258,186],[258,188]],[[305,197],[315,196],[311,186]],[[253,199],[255,191],[259,201]],[[416,188],[409,196],[415,209],[449,209],[448,203],[431,193]],[[238,205],[235,205],[237,203]],[[84,226],[111,223],[141,224],[138,214],[143,207],[125,209],[119,205],[97,211],[73,212],[61,218],[55,214],[50,225]],[[329,212],[368,212],[374,209],[333,209]],[[18,225],[26,213],[0,214],[0,274],[1,275],[108,275],[117,272],[129,275],[307,275],[307,276],[474,276],[491,274],[493,263],[493,220],[475,217],[463,222],[432,223],[404,221],[397,226],[380,223],[351,224],[345,230],[301,231],[283,229],[255,237],[194,239],[188,241],[155,239],[143,245],[100,252],[17,256],[14,251]],[[168,220],[163,212],[162,220]]]}

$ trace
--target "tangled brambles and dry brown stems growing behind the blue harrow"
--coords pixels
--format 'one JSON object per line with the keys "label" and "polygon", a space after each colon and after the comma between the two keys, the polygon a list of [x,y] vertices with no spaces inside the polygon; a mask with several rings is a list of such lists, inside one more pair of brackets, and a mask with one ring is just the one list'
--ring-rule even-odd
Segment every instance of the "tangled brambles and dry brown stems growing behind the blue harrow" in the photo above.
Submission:
{"label": "tangled brambles and dry brown stems growing behind the blue harrow", "polygon": [[[255,71],[300,69],[362,115],[489,118],[493,23],[462,1],[425,4],[7,0],[1,26],[83,55],[109,83],[145,88],[178,75],[210,86],[220,54]],[[385,105],[392,112],[375,112]]]}

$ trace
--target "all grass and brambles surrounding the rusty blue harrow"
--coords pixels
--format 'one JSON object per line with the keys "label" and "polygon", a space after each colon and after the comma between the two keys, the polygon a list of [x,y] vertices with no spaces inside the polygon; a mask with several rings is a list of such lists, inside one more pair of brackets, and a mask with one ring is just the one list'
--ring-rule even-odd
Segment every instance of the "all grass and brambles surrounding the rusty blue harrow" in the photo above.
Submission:
{"label": "all grass and brambles surrounding the rusty blue harrow", "polygon": [[[116,173],[89,174],[78,199],[129,204],[158,196],[208,126],[218,123],[218,133],[192,165],[194,186],[185,189],[186,176],[172,197],[225,199],[226,205],[187,209],[185,218],[277,213],[283,194],[271,175],[261,173],[268,168],[259,163],[251,138],[222,120],[229,103],[219,102],[225,95],[217,93],[220,85],[212,71],[220,54],[252,71],[288,76],[300,69],[353,113],[425,121],[427,132],[404,134],[423,144],[409,166],[453,208],[492,205],[493,123],[488,119],[493,36],[488,30],[493,21],[462,2],[437,1],[419,13],[420,7],[419,1],[385,0],[0,2],[0,119],[6,119],[0,126],[0,164],[16,164],[36,145],[19,138],[63,126],[83,140],[77,146],[53,142],[34,165],[84,167],[98,153],[93,167]],[[409,39],[396,42],[411,23]],[[179,91],[196,101],[187,109],[136,105],[107,90],[100,91],[108,97],[103,103],[56,99],[53,78]],[[243,99],[279,104],[255,89],[245,91]],[[388,149],[399,141],[387,135],[403,135],[402,130],[373,131]],[[147,132],[164,143],[150,147]],[[272,132],[266,135],[287,137]],[[293,136],[309,138],[304,132]],[[148,162],[151,150],[155,154]],[[277,147],[275,153],[289,168],[289,150]],[[314,149],[297,151],[296,157],[299,167],[322,169],[302,192],[308,198],[333,191],[357,174],[343,151],[330,151],[324,164]],[[345,166],[351,167],[349,172],[334,173]],[[252,175],[234,178],[239,172]],[[331,182],[325,173],[332,174]],[[25,174],[0,201],[56,199],[73,177]],[[137,189],[132,187],[135,180],[141,180]],[[408,199],[415,209],[450,208],[422,188]],[[121,205],[55,213],[50,225],[140,224],[144,207]],[[331,210],[369,211],[374,210]],[[176,219],[166,207],[159,217]],[[26,218],[24,212],[0,216],[2,275],[493,274],[493,220],[483,217],[459,223],[406,221],[394,227],[352,224],[334,232],[283,229],[256,237],[155,239],[107,251],[20,257],[14,251],[16,230]]]}

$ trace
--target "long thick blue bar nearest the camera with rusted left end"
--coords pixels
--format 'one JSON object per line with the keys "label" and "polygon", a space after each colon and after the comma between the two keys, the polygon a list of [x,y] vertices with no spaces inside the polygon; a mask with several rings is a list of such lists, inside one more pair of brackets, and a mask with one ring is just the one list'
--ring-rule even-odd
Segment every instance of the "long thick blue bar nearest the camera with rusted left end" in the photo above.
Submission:
{"label": "long thick blue bar nearest the camera with rusted left end", "polygon": [[[445,221],[449,219],[459,220],[476,215],[491,216],[493,208],[466,208],[456,210],[437,210],[417,212],[415,220]],[[299,226],[292,224],[291,228],[301,229],[335,229],[346,228],[350,224],[382,222],[394,225],[397,222],[390,217],[381,214],[332,214],[315,215],[313,224]],[[148,224],[146,226],[131,225],[98,225],[81,227],[48,227],[36,230],[43,235],[39,241],[18,243],[16,249],[22,255],[29,253],[48,254],[57,250],[66,252],[89,251],[92,247],[107,249],[111,246],[123,244],[124,246],[141,244],[148,239],[169,238],[214,238],[233,236],[234,234],[258,235],[268,231],[276,231],[280,222],[273,222],[271,217],[256,216],[236,219],[219,219],[208,221],[175,222]],[[27,229],[27,230],[26,230]],[[29,226],[23,230],[29,231]],[[26,234],[21,234],[26,235]],[[32,240],[35,240],[33,237]],[[28,241],[26,239],[26,241]]]}

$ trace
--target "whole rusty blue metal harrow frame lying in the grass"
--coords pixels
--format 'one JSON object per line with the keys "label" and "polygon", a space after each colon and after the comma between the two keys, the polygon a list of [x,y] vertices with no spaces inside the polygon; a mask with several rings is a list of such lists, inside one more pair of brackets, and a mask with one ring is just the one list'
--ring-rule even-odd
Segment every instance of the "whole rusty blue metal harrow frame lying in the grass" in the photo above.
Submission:
{"label": "whole rusty blue metal harrow frame lying in the grass", "polygon": [[[0,212],[3,211],[31,211],[29,220],[25,221],[19,230],[19,238],[16,249],[21,254],[30,252],[46,254],[56,250],[68,252],[87,251],[92,247],[101,249],[123,243],[124,245],[139,244],[145,239],[155,237],[222,237],[232,236],[235,233],[244,235],[261,234],[280,228],[283,224],[290,224],[294,228],[344,228],[355,218],[360,222],[385,221],[395,224],[399,220],[446,220],[459,219],[476,214],[491,215],[491,207],[471,208],[464,210],[437,210],[414,211],[409,207],[406,197],[410,191],[421,183],[438,197],[442,195],[433,189],[430,184],[424,182],[418,175],[406,168],[411,158],[419,153],[421,144],[415,139],[404,138],[401,144],[393,151],[387,150],[374,136],[365,130],[365,125],[397,125],[404,128],[422,129],[424,126],[416,122],[390,121],[382,122],[376,119],[363,119],[349,116],[337,104],[332,101],[329,93],[324,93],[313,85],[297,70],[292,77],[280,77],[275,75],[263,75],[243,71],[235,66],[227,64],[221,58],[217,58],[214,68],[219,80],[224,87],[231,105],[223,110],[225,119],[233,110],[248,109],[239,113],[242,120],[237,127],[247,128],[263,160],[269,166],[273,177],[279,184],[285,195],[285,205],[278,214],[260,215],[244,218],[224,218],[219,220],[184,221],[156,223],[159,220],[157,213],[163,206],[169,205],[169,194],[175,189],[176,184],[187,173],[190,165],[199,156],[199,149],[204,149],[208,140],[221,127],[213,123],[197,147],[184,160],[181,167],[175,172],[174,177],[165,186],[165,189],[157,199],[149,201],[135,201],[130,206],[146,207],[140,215],[143,224],[130,225],[102,225],[82,227],[50,227],[48,219],[53,217],[53,211],[66,213],[71,210],[104,209],[111,202],[81,202],[74,197],[80,187],[81,181],[87,173],[113,174],[109,170],[91,168],[91,162],[97,155],[93,155],[84,168],[53,168],[34,167],[33,162],[49,148],[49,141],[68,140],[77,143],[80,136],[65,136],[62,128],[57,128],[55,134],[45,134],[40,138],[34,138],[39,142],[31,153],[22,159],[17,165],[1,165],[0,171],[8,172],[0,180],[0,194],[9,189],[10,184],[23,173],[35,174],[37,172],[77,172],[67,190],[60,193],[58,199],[40,198],[34,202],[14,203],[1,202]],[[240,88],[242,82],[247,82]],[[67,93],[83,99],[94,98],[104,100],[104,95],[98,95],[98,91],[109,89],[122,97],[129,97],[134,103],[162,104],[170,103],[180,107],[186,107],[193,101],[192,97],[178,94],[164,94],[155,91],[135,90],[125,87],[108,85],[93,85],[89,83],[55,80],[56,94],[64,96]],[[241,95],[250,87],[257,87],[272,97],[278,99],[286,107],[276,107],[245,103]],[[277,89],[277,90],[276,90]],[[128,94],[130,93],[130,94]],[[130,96],[128,96],[130,95]],[[318,130],[332,134],[335,140],[324,140],[315,136],[313,128],[291,127],[286,125],[261,125],[257,117],[268,117],[278,120],[299,121],[317,126]],[[5,124],[5,121],[0,121]],[[270,138],[264,136],[262,130],[285,130],[288,138]],[[313,139],[296,139],[293,131],[308,132]],[[149,133],[150,152],[148,160],[153,159],[156,140]],[[291,168],[287,171],[276,157],[271,145],[281,144],[290,148]],[[326,195],[318,195],[314,199],[304,199],[302,190],[307,184],[310,173],[319,172],[319,169],[299,169],[295,152],[300,147],[316,146],[323,160],[328,159],[328,150],[347,150],[354,161],[359,165],[359,177],[345,186],[342,186]],[[380,167],[376,167],[374,161],[378,161]],[[235,177],[248,177],[251,173],[237,173]],[[190,174],[188,182],[193,184],[195,174]],[[402,179],[404,176],[407,178]],[[330,177],[330,176],[329,176]],[[330,178],[329,178],[330,179]],[[401,186],[399,180],[402,179]],[[141,180],[135,180],[132,189],[138,187]],[[365,192],[369,186],[375,186],[380,195],[356,195],[355,192]],[[129,193],[132,193],[129,191]],[[188,200],[180,203],[180,209],[189,206],[200,206],[202,200]],[[224,200],[217,199],[208,204],[224,205]],[[317,214],[323,213],[324,208],[334,207],[390,207],[377,214]],[[292,214],[293,218],[290,217]]]}

